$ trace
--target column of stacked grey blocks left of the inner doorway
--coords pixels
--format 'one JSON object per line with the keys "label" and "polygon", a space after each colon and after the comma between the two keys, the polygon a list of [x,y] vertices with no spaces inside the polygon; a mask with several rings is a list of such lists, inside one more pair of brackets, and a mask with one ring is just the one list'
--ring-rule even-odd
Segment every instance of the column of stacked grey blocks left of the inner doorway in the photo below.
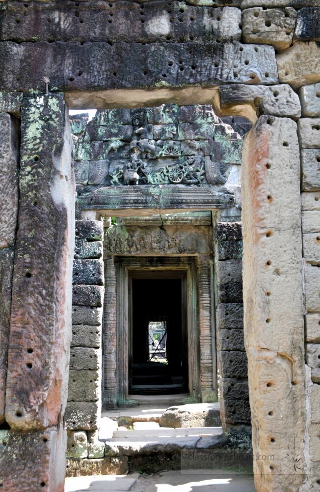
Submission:
{"label": "column of stacked grey blocks left of the inner doorway", "polygon": [[73,459],[88,457],[88,437],[95,444],[101,415],[103,231],[103,222],[76,221],[66,421],[67,456]]}

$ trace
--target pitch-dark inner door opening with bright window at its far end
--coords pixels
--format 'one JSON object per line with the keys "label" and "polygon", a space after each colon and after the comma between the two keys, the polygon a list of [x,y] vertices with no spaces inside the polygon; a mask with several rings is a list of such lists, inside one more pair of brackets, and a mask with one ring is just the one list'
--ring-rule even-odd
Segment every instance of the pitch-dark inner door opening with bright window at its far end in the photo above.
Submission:
{"label": "pitch-dark inner door opening with bright window at its far end", "polygon": [[186,392],[186,273],[132,273],[130,300],[130,393]]}

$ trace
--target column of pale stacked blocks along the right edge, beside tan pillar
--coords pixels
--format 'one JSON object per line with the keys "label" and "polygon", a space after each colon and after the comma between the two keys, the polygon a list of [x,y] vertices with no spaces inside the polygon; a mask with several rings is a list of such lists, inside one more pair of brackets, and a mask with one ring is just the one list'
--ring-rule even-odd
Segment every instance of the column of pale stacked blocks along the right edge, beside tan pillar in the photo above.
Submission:
{"label": "column of pale stacked blocks along the right edge, beside tan pillar", "polygon": [[[320,477],[320,84],[303,86],[298,122],[301,156],[301,214],[304,256],[307,385],[311,400],[310,450],[313,483]],[[310,380],[311,378],[311,380]]]}

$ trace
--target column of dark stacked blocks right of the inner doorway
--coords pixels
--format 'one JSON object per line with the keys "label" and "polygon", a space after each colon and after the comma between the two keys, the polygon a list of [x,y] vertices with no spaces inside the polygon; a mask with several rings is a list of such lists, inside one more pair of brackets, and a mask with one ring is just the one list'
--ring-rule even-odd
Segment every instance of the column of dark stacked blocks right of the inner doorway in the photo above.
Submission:
{"label": "column of dark stacked blocks right of the inner doorway", "polygon": [[241,222],[217,222],[214,235],[221,420],[227,431],[241,428],[249,432],[245,427],[251,418],[243,343]]}

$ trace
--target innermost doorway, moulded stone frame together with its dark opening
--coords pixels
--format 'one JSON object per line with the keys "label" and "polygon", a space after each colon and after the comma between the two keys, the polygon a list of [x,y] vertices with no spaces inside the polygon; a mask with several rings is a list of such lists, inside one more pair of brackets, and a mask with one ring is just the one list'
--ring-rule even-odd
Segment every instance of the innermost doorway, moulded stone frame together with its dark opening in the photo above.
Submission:
{"label": "innermost doorway, moulded stone frame together with its dark opening", "polygon": [[[114,266],[117,400],[126,400],[131,392],[187,392],[199,398],[196,257],[120,255]],[[153,345],[154,340],[159,344]],[[166,360],[160,362],[160,357]]]}

